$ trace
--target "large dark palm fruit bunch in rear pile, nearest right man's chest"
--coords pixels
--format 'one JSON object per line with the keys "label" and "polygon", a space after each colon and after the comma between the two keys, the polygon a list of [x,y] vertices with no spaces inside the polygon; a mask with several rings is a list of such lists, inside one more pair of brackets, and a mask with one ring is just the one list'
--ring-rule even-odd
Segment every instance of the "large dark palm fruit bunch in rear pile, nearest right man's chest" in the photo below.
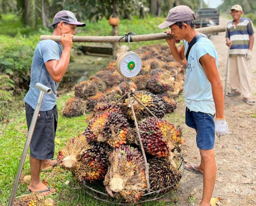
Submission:
{"label": "large dark palm fruit bunch in rear pile, nearest right man's chest", "polygon": [[173,90],[173,80],[169,72],[160,72],[148,79],[147,88],[157,94]]}

